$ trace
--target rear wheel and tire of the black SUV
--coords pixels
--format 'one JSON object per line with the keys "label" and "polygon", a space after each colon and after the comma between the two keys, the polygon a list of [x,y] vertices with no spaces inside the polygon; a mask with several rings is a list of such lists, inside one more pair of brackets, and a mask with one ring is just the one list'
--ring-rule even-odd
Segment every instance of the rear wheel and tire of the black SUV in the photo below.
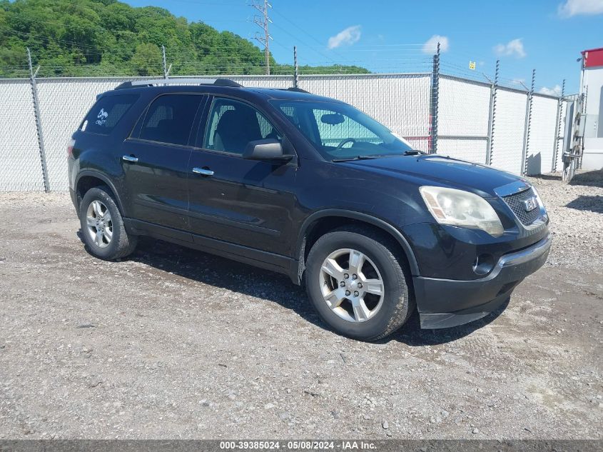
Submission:
{"label": "rear wheel and tire of the black SUV", "polygon": [[121,213],[107,186],[86,191],[81,200],[79,218],[83,241],[93,256],[113,261],[128,256],[136,248],[138,237],[126,232]]}

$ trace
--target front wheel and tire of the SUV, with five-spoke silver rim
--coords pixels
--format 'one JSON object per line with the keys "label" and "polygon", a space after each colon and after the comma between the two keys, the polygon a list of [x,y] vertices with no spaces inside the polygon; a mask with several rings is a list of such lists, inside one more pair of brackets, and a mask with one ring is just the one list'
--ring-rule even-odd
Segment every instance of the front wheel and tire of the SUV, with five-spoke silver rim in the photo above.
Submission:
{"label": "front wheel and tire of the SUV, with five-spoke silver rim", "polygon": [[[362,275],[357,275],[355,262],[362,261],[363,255]],[[334,331],[360,341],[377,341],[397,331],[410,317],[415,301],[409,295],[409,278],[405,259],[392,238],[370,227],[344,226],[314,243],[306,261],[305,290]],[[358,288],[359,281],[368,283]]]}

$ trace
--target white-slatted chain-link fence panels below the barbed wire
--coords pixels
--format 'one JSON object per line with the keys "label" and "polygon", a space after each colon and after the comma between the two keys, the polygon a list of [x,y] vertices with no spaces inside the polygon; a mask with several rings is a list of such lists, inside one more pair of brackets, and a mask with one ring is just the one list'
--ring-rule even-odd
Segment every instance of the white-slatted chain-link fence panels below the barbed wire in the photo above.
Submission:
{"label": "white-slatted chain-link fence panels below the barbed wire", "polygon": [[[226,78],[243,86],[294,84],[293,76]],[[133,78],[0,79],[0,190],[66,191],[71,134],[98,94],[126,80]],[[298,86],[358,107],[422,151],[516,174],[559,167],[565,103],[554,96],[437,71],[300,75]]]}

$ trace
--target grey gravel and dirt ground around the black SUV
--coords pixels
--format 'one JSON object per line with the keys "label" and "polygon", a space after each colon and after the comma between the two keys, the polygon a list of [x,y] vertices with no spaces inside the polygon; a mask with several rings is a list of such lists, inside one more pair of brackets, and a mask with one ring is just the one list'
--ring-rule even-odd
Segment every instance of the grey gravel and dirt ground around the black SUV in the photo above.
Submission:
{"label": "grey gravel and dirt ground around the black SUV", "polygon": [[602,438],[603,177],[533,181],[554,248],[506,310],[380,343],[285,276],[99,261],[69,196],[1,194],[0,438]]}

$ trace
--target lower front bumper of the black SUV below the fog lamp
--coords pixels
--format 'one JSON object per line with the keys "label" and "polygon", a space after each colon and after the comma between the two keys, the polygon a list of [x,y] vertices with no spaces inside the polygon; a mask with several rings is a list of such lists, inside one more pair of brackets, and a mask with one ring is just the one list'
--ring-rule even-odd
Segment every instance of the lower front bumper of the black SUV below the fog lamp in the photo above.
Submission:
{"label": "lower front bumper of the black SUV below the fog lamp", "polygon": [[495,311],[517,284],[544,265],[551,241],[549,234],[528,248],[503,255],[485,278],[413,276],[421,328],[449,328]]}

